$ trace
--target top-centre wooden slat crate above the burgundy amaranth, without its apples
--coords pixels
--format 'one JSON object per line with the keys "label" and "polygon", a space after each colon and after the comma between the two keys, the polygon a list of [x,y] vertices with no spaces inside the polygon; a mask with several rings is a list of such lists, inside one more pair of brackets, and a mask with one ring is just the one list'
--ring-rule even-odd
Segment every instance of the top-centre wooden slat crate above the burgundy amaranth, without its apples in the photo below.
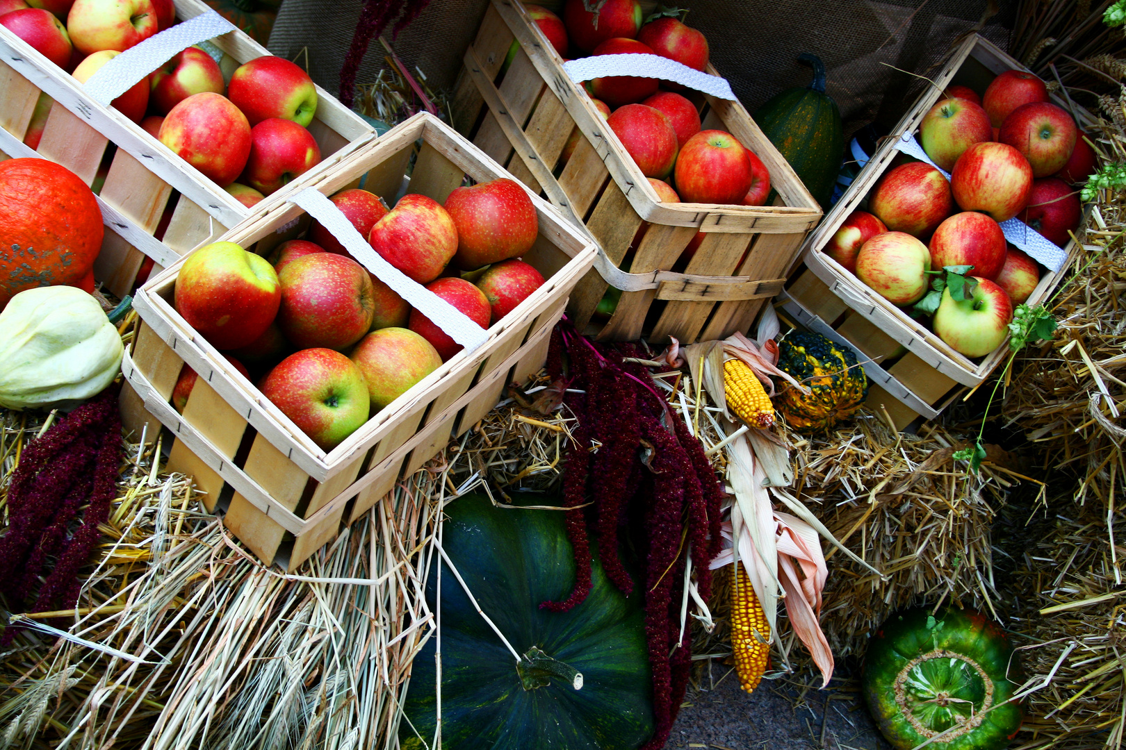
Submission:
{"label": "top-centre wooden slat crate above the burgundy amaranth, without its apples", "polygon": [[[498,82],[513,39],[520,48]],[[738,101],[698,94],[703,125],[732,133],[758,154],[770,170],[778,205],[662,204],[519,0],[492,0],[464,61],[453,103],[455,126],[534,192],[584,224],[602,260],[620,268],[638,228],[647,225],[629,272],[649,288],[624,292],[605,325],[591,324],[609,286],[592,270],[568,306],[580,329],[617,341],[643,333],[682,343],[720,338],[745,331],[763,301],[781,289],[821,209]],[[575,128],[579,144],[560,164]],[[699,251],[685,273],[672,273],[697,231],[706,233]]]}

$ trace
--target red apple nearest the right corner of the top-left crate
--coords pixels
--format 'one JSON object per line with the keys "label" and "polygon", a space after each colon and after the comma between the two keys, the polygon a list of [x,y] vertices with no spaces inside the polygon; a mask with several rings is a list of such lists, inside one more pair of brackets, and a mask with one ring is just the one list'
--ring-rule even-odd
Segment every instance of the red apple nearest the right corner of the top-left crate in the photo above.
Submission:
{"label": "red apple nearest the right corner of the top-left crate", "polygon": [[268,196],[320,163],[321,147],[312,133],[271,117],[250,128],[250,156],[240,180]]}

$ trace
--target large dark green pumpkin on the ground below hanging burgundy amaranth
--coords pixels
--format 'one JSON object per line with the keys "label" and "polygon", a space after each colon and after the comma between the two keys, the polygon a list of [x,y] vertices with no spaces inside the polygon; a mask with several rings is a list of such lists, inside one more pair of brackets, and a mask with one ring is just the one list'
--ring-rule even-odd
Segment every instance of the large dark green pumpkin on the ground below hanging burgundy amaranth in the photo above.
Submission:
{"label": "large dark green pumpkin on the ground below hanging burgundy amaranth", "polygon": [[[538,497],[537,505],[557,505]],[[556,510],[503,509],[486,497],[446,506],[443,549],[481,609],[445,564],[441,571],[441,739],[445,750],[633,750],[653,732],[642,597],[629,598],[592,560],[587,599],[566,613],[540,609],[574,584],[574,555]],[[436,606],[437,559],[427,579]],[[435,638],[414,658],[405,719],[431,742]],[[575,672],[581,675],[575,689]],[[403,750],[425,746],[402,722]]]}

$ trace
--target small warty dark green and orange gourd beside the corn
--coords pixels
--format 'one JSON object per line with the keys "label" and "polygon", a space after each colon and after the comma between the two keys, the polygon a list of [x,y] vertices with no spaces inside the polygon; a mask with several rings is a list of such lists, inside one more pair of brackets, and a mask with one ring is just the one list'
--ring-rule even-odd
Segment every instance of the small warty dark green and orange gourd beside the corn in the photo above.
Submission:
{"label": "small warty dark green and orange gourd beside the corn", "polygon": [[799,331],[778,342],[778,369],[808,388],[780,383],[775,408],[798,432],[824,432],[851,416],[868,397],[856,352],[819,333]]}

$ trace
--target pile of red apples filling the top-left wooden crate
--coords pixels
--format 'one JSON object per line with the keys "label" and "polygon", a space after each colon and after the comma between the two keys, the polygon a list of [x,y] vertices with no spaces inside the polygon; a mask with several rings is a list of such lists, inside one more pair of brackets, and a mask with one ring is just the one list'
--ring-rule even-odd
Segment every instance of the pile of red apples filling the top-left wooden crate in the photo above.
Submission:
{"label": "pile of red apples filling the top-left wooden crate", "polygon": [[[0,25],[79,82],[177,24],[172,0],[34,1],[42,7],[0,0]],[[305,71],[282,57],[251,60],[227,83],[207,52],[188,47],[113,107],[248,208],[321,161],[306,129],[316,114],[316,89]],[[51,98],[39,94],[25,136],[32,148],[50,111]]]}

